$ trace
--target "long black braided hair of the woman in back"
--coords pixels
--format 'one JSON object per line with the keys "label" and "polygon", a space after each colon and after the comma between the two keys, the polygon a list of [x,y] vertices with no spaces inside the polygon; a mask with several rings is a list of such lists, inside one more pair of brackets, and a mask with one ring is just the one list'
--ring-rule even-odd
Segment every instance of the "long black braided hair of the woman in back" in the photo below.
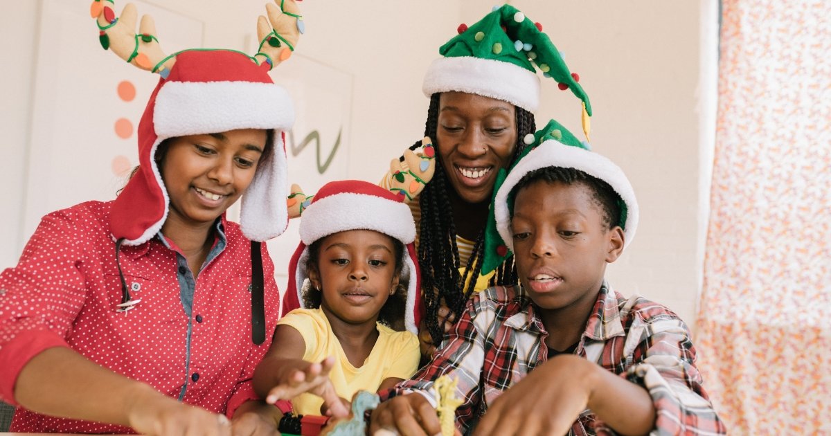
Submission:
{"label": "long black braided hair of the woman in back", "polygon": [[[425,136],[436,140],[439,124],[439,97],[436,93],[430,97],[430,109],[427,111]],[[517,144],[511,164],[519,153],[527,147],[525,135],[534,133],[536,124],[534,114],[516,107]],[[416,143],[414,147],[420,145]],[[484,256],[484,228],[479,231],[473,251],[460,274],[459,247],[456,245],[456,229],[453,221],[453,208],[450,206],[448,191],[453,189],[447,181],[447,174],[441,163],[440,153],[435,154],[435,173],[419,196],[421,223],[419,229],[418,260],[421,270],[421,288],[425,303],[425,321],[433,343],[439,344],[445,336],[444,327],[439,325],[439,308],[442,301],[459,319],[465,309],[467,296],[474,290],[479,278],[482,257]],[[465,280],[463,280],[465,277]],[[466,277],[470,277],[470,281]],[[514,284],[517,280],[514,258],[509,257],[497,270],[492,285]],[[465,289],[465,282],[468,285]]]}

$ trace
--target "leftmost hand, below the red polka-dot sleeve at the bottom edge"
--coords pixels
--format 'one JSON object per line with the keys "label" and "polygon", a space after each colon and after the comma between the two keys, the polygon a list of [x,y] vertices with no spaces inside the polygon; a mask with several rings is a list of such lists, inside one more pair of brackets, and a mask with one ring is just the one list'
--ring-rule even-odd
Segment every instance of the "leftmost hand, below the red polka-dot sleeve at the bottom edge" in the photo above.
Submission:
{"label": "leftmost hand, below the red polka-dot sleeve at the bottom edge", "polygon": [[140,434],[231,436],[231,423],[225,415],[179,403],[142,385],[130,400],[127,419]]}

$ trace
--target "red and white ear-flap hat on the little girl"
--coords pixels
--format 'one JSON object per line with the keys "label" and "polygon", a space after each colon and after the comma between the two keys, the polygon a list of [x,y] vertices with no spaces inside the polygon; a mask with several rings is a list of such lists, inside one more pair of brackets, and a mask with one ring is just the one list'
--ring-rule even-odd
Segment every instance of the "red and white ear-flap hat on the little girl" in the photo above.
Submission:
{"label": "red and white ear-flap hat on the little girl", "polygon": [[283,297],[283,315],[302,307],[308,246],[320,238],[347,230],[375,230],[404,244],[401,283],[405,284],[407,331],[418,334],[420,280],[416,257],[416,223],[401,197],[376,184],[342,180],[323,185],[303,210],[300,244],[288,265],[288,291]]}

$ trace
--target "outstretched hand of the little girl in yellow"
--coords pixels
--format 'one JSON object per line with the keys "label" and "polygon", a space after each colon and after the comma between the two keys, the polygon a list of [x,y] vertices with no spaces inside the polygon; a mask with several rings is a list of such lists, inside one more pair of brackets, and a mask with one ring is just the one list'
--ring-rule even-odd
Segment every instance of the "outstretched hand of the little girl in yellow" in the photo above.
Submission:
{"label": "outstretched hand of the little girl in yellow", "polygon": [[265,401],[274,404],[278,399],[293,399],[299,394],[315,394],[323,399],[323,404],[336,418],[345,417],[349,409],[344,407],[341,398],[337,396],[332,380],[329,380],[329,371],[335,365],[335,358],[331,355],[321,363],[312,363],[306,370],[294,370],[286,376],[286,380],[268,391]]}

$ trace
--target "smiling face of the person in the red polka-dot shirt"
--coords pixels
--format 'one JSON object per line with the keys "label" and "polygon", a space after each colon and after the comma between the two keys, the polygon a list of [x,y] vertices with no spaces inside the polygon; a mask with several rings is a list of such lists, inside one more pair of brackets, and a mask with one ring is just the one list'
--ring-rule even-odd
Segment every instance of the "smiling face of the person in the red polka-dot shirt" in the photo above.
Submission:
{"label": "smiling face of the person in the red polka-dot shirt", "polygon": [[266,142],[266,130],[257,129],[171,139],[159,164],[170,197],[162,231],[214,223],[251,184]]}

